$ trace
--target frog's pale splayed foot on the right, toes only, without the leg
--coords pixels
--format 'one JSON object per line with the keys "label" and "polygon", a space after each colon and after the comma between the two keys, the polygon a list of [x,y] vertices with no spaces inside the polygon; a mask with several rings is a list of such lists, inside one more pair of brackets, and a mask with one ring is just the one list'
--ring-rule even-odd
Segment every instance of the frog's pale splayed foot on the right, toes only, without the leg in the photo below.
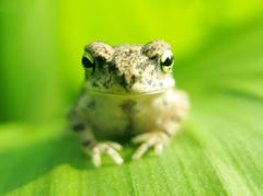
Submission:
{"label": "frog's pale splayed foot on the right, toes only, without the leg", "polygon": [[153,131],[136,136],[132,141],[141,145],[133,154],[133,159],[140,159],[150,148],[153,148],[156,154],[160,154],[169,140],[169,136],[162,131]]}

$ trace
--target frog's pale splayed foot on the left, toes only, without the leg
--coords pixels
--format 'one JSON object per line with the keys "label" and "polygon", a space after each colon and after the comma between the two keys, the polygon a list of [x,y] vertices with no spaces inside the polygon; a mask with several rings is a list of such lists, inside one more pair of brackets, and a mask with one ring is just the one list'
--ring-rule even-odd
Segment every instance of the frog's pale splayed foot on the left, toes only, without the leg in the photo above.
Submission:
{"label": "frog's pale splayed foot on the left, toes only, without the leg", "polygon": [[123,158],[119,155],[118,151],[122,150],[122,146],[113,141],[104,141],[92,145],[89,153],[92,158],[93,164],[99,168],[101,166],[101,157],[106,153],[116,164],[123,163]]}

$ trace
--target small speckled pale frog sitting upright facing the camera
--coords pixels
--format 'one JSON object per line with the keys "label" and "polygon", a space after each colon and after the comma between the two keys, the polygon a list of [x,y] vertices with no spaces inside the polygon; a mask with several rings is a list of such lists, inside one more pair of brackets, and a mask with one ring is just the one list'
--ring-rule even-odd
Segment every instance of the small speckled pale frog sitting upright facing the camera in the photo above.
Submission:
{"label": "small speckled pale frog sitting upright facing the camera", "polygon": [[175,88],[174,57],[164,41],[84,46],[84,83],[69,122],[94,166],[107,154],[122,164],[123,142],[138,146],[132,160],[161,154],[188,113],[186,92]]}

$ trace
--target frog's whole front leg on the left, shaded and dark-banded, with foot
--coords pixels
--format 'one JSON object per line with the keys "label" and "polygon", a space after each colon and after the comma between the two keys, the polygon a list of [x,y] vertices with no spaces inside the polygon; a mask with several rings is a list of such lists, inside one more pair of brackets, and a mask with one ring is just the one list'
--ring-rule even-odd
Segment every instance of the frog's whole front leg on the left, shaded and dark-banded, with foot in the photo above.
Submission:
{"label": "frog's whole front leg on the left, shaded and dark-banded, with foot", "polygon": [[81,141],[83,151],[91,157],[93,164],[96,168],[101,166],[101,157],[103,153],[111,157],[116,164],[122,164],[123,159],[118,153],[122,150],[122,146],[113,141],[98,141],[92,128],[84,120],[81,122],[80,119],[76,116],[72,117],[71,126]]}

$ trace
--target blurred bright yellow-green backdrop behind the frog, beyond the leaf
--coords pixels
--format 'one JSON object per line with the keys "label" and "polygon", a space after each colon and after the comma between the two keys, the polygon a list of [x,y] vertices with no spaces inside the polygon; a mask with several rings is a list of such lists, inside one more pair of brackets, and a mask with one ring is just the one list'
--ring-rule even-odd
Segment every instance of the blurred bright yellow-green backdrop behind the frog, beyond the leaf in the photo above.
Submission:
{"label": "blurred bright yellow-green backdrop behind the frog, beyond the leaf", "polygon": [[83,81],[80,58],[89,42],[165,39],[182,67],[220,33],[259,21],[262,10],[261,0],[1,0],[0,120],[61,118]]}

